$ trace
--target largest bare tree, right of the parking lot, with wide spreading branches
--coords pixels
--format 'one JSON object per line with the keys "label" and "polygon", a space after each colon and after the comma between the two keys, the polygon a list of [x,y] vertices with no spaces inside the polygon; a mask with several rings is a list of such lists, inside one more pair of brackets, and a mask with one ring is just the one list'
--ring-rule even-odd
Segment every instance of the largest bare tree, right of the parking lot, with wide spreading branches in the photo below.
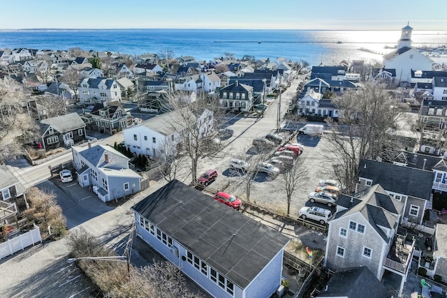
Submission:
{"label": "largest bare tree, right of the parking lot, with wide spreading branches", "polygon": [[390,158],[397,121],[408,107],[390,97],[384,85],[365,83],[361,89],[346,91],[332,99],[339,110],[338,122],[328,119],[328,151],[334,170],[347,191],[354,191],[358,163],[362,158]]}

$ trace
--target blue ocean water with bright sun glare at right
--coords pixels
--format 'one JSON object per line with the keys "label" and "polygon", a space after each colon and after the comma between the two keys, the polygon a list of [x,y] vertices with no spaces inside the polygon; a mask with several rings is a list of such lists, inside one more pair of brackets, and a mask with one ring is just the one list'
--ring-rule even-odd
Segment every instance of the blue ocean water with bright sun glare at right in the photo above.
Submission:
{"label": "blue ocean water with bright sun glare at right", "polygon": [[[332,65],[342,60],[381,61],[397,45],[400,30],[217,30],[217,29],[110,29],[0,31],[0,49],[111,51],[125,54],[173,50],[175,57],[190,55],[209,61],[233,53],[236,58],[285,57],[310,65]],[[447,31],[413,31],[413,47],[447,45]],[[373,52],[360,50],[366,48]]]}

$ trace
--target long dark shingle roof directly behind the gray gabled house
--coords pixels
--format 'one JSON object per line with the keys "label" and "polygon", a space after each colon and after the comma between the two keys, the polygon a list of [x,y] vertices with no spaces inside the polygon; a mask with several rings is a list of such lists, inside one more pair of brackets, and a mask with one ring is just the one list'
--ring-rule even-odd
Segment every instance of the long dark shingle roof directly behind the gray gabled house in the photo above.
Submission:
{"label": "long dark shingle roof directly behind the gray gabled house", "polygon": [[359,177],[372,179],[373,184],[380,184],[387,191],[430,200],[434,172],[363,159]]}

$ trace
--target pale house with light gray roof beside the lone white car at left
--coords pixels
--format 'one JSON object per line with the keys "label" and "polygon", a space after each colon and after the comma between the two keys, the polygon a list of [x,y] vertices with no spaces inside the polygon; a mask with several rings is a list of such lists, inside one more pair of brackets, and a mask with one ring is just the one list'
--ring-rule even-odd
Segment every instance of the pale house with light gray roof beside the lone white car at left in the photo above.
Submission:
{"label": "pale house with light gray roof beside the lone white car at left", "polygon": [[129,169],[130,159],[109,146],[71,147],[73,167],[82,187],[92,186],[103,202],[140,191],[139,174]]}

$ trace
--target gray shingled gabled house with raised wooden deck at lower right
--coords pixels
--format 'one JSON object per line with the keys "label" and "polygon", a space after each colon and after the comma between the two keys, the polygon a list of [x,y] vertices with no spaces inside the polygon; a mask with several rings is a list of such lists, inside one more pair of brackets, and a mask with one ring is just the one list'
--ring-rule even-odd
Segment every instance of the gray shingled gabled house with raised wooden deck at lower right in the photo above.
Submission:
{"label": "gray shingled gabled house with raised wooden deck at lower right", "polygon": [[415,246],[414,239],[397,232],[403,210],[404,203],[379,184],[340,195],[335,218],[328,222],[325,267],[365,266],[379,281],[387,270],[401,277],[402,292]]}

